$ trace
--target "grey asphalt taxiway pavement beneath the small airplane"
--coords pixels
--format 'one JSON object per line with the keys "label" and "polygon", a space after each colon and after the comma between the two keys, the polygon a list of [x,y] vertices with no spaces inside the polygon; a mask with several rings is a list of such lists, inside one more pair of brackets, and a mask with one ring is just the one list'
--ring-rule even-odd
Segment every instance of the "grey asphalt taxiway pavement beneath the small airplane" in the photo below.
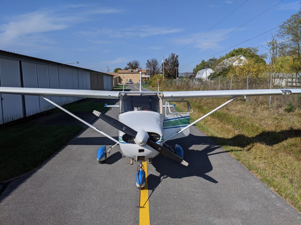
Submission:
{"label": "grey asphalt taxiway pavement beneath the small airplane", "polygon": [[[118,109],[107,115],[117,119]],[[117,139],[118,131],[101,119],[93,125]],[[298,211],[195,126],[169,143],[183,147],[189,166],[162,155],[147,164],[150,224],[301,224]],[[88,128],[12,181],[0,198],[0,224],[141,223],[138,164],[130,165],[119,146],[98,164],[104,144],[114,143]]]}

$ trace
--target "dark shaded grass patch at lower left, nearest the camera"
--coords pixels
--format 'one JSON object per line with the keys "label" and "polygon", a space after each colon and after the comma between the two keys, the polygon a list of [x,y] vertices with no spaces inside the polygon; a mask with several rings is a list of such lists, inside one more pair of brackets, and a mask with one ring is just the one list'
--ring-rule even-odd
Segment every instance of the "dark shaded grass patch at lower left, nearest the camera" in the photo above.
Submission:
{"label": "dark shaded grass patch at lower left, nearest the camera", "polygon": [[[84,128],[73,125],[22,124],[1,129],[0,181],[28,173]],[[2,128],[4,128],[2,126]]]}

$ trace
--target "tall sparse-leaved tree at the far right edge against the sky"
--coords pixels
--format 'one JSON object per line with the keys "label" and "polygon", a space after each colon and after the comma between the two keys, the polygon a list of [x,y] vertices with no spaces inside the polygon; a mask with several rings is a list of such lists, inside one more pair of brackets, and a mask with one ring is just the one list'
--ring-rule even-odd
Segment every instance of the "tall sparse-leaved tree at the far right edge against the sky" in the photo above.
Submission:
{"label": "tall sparse-leaved tree at the far right edge against the sky", "polygon": [[277,37],[281,39],[279,44],[280,55],[291,56],[293,63],[291,70],[296,75],[301,71],[301,8],[279,27]]}

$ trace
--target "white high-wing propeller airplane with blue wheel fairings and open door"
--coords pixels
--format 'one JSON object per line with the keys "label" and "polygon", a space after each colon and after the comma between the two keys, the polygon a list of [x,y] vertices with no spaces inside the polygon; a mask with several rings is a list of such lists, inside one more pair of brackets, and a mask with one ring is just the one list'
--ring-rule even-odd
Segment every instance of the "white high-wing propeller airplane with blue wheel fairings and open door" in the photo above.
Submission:
{"label": "white high-wing propeller airplane with blue wheel fairings and open door", "polygon": [[[184,166],[188,163],[183,159],[184,152],[181,146],[176,145],[174,149],[165,142],[189,135],[189,128],[211,113],[230,103],[237,97],[259,96],[259,95],[290,95],[301,94],[298,89],[255,89],[255,90],[225,90],[225,91],[97,91],[97,90],[72,90],[72,89],[50,89],[50,88],[15,88],[0,87],[2,94],[16,95],[39,95],[54,106],[60,108],[74,118],[93,128],[95,131],[108,137],[119,144],[124,156],[133,161],[140,162],[136,174],[136,186],[141,189],[145,185],[145,173],[142,166],[143,161],[149,161],[159,153],[165,155]],[[114,98],[119,99],[119,105],[106,105],[107,107],[119,108],[119,120],[113,119],[104,113],[94,110],[94,114],[105,122],[119,130],[119,140],[115,140],[108,134],[92,126],[91,124],[70,113],[63,107],[57,105],[45,96],[82,97],[82,98]],[[197,119],[190,124],[190,113],[192,109],[187,98],[229,98],[224,104]],[[163,100],[167,99],[165,104]],[[177,100],[174,100],[177,99]],[[180,99],[180,100],[178,100]],[[178,113],[172,110],[175,104],[170,102],[184,102],[187,104],[187,112]],[[163,145],[164,144],[164,145]],[[97,152],[97,160],[104,163],[107,153],[114,147],[106,150],[101,146]]]}

